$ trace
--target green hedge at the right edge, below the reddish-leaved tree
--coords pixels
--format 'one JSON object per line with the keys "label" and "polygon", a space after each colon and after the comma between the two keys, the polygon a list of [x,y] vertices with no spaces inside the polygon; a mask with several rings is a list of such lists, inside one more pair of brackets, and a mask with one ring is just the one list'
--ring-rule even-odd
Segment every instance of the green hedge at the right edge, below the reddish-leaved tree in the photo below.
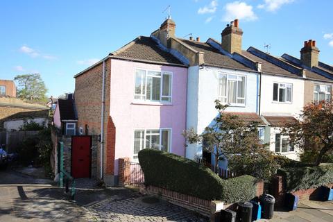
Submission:
{"label": "green hedge at the right edge, below the reddish-leaved tree", "polygon": [[291,167],[278,170],[284,176],[287,191],[311,189],[333,183],[333,165],[319,167]]}

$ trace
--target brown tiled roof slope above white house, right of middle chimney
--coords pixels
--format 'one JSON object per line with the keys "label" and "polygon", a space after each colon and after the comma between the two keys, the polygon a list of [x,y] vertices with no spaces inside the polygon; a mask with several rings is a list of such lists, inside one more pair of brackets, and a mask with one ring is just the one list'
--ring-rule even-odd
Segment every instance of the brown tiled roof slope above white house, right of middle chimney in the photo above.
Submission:
{"label": "brown tiled roof slope above white house, right of middle chimney", "polygon": [[282,76],[288,76],[288,77],[297,77],[297,75],[291,73],[291,71],[282,69],[281,67],[274,65],[272,62],[268,62],[267,60],[264,60],[258,56],[253,55],[253,53],[243,50],[241,54],[255,62],[262,62],[262,72],[264,72],[264,73],[280,74]]}

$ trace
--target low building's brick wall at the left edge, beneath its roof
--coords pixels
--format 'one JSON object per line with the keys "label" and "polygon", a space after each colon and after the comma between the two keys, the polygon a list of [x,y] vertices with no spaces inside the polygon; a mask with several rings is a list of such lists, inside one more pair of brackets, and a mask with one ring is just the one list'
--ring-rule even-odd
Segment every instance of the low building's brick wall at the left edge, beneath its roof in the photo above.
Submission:
{"label": "low building's brick wall at the left edge, beneath its roof", "polygon": [[0,129],[3,123],[8,119],[24,119],[31,117],[47,117],[49,110],[41,110],[34,108],[20,108],[19,106],[0,105]]}

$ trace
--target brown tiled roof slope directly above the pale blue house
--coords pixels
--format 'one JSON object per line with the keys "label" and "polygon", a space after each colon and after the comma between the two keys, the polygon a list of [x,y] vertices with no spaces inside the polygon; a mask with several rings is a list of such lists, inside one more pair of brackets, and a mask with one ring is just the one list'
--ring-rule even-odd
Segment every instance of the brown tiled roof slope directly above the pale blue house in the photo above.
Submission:
{"label": "brown tiled roof slope directly above the pale blue house", "polygon": [[205,61],[205,65],[253,71],[252,69],[246,67],[240,62],[233,60],[229,56],[223,55],[218,49],[215,49],[210,44],[207,44],[205,42],[196,42],[194,40],[184,40],[179,38],[178,40],[187,44],[196,51],[202,51],[204,53],[203,60]]}

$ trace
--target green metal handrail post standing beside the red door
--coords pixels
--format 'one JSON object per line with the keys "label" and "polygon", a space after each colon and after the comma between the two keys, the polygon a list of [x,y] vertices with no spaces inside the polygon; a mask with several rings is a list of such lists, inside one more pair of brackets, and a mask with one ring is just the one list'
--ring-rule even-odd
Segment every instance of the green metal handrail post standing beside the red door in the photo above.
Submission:
{"label": "green metal handrail post standing beside the red door", "polygon": [[64,187],[64,176],[65,176],[65,191],[69,193],[69,181],[71,181],[71,200],[74,200],[75,197],[75,179],[65,171],[64,169],[64,143],[59,142],[60,145],[60,178],[59,178],[59,187]]}

